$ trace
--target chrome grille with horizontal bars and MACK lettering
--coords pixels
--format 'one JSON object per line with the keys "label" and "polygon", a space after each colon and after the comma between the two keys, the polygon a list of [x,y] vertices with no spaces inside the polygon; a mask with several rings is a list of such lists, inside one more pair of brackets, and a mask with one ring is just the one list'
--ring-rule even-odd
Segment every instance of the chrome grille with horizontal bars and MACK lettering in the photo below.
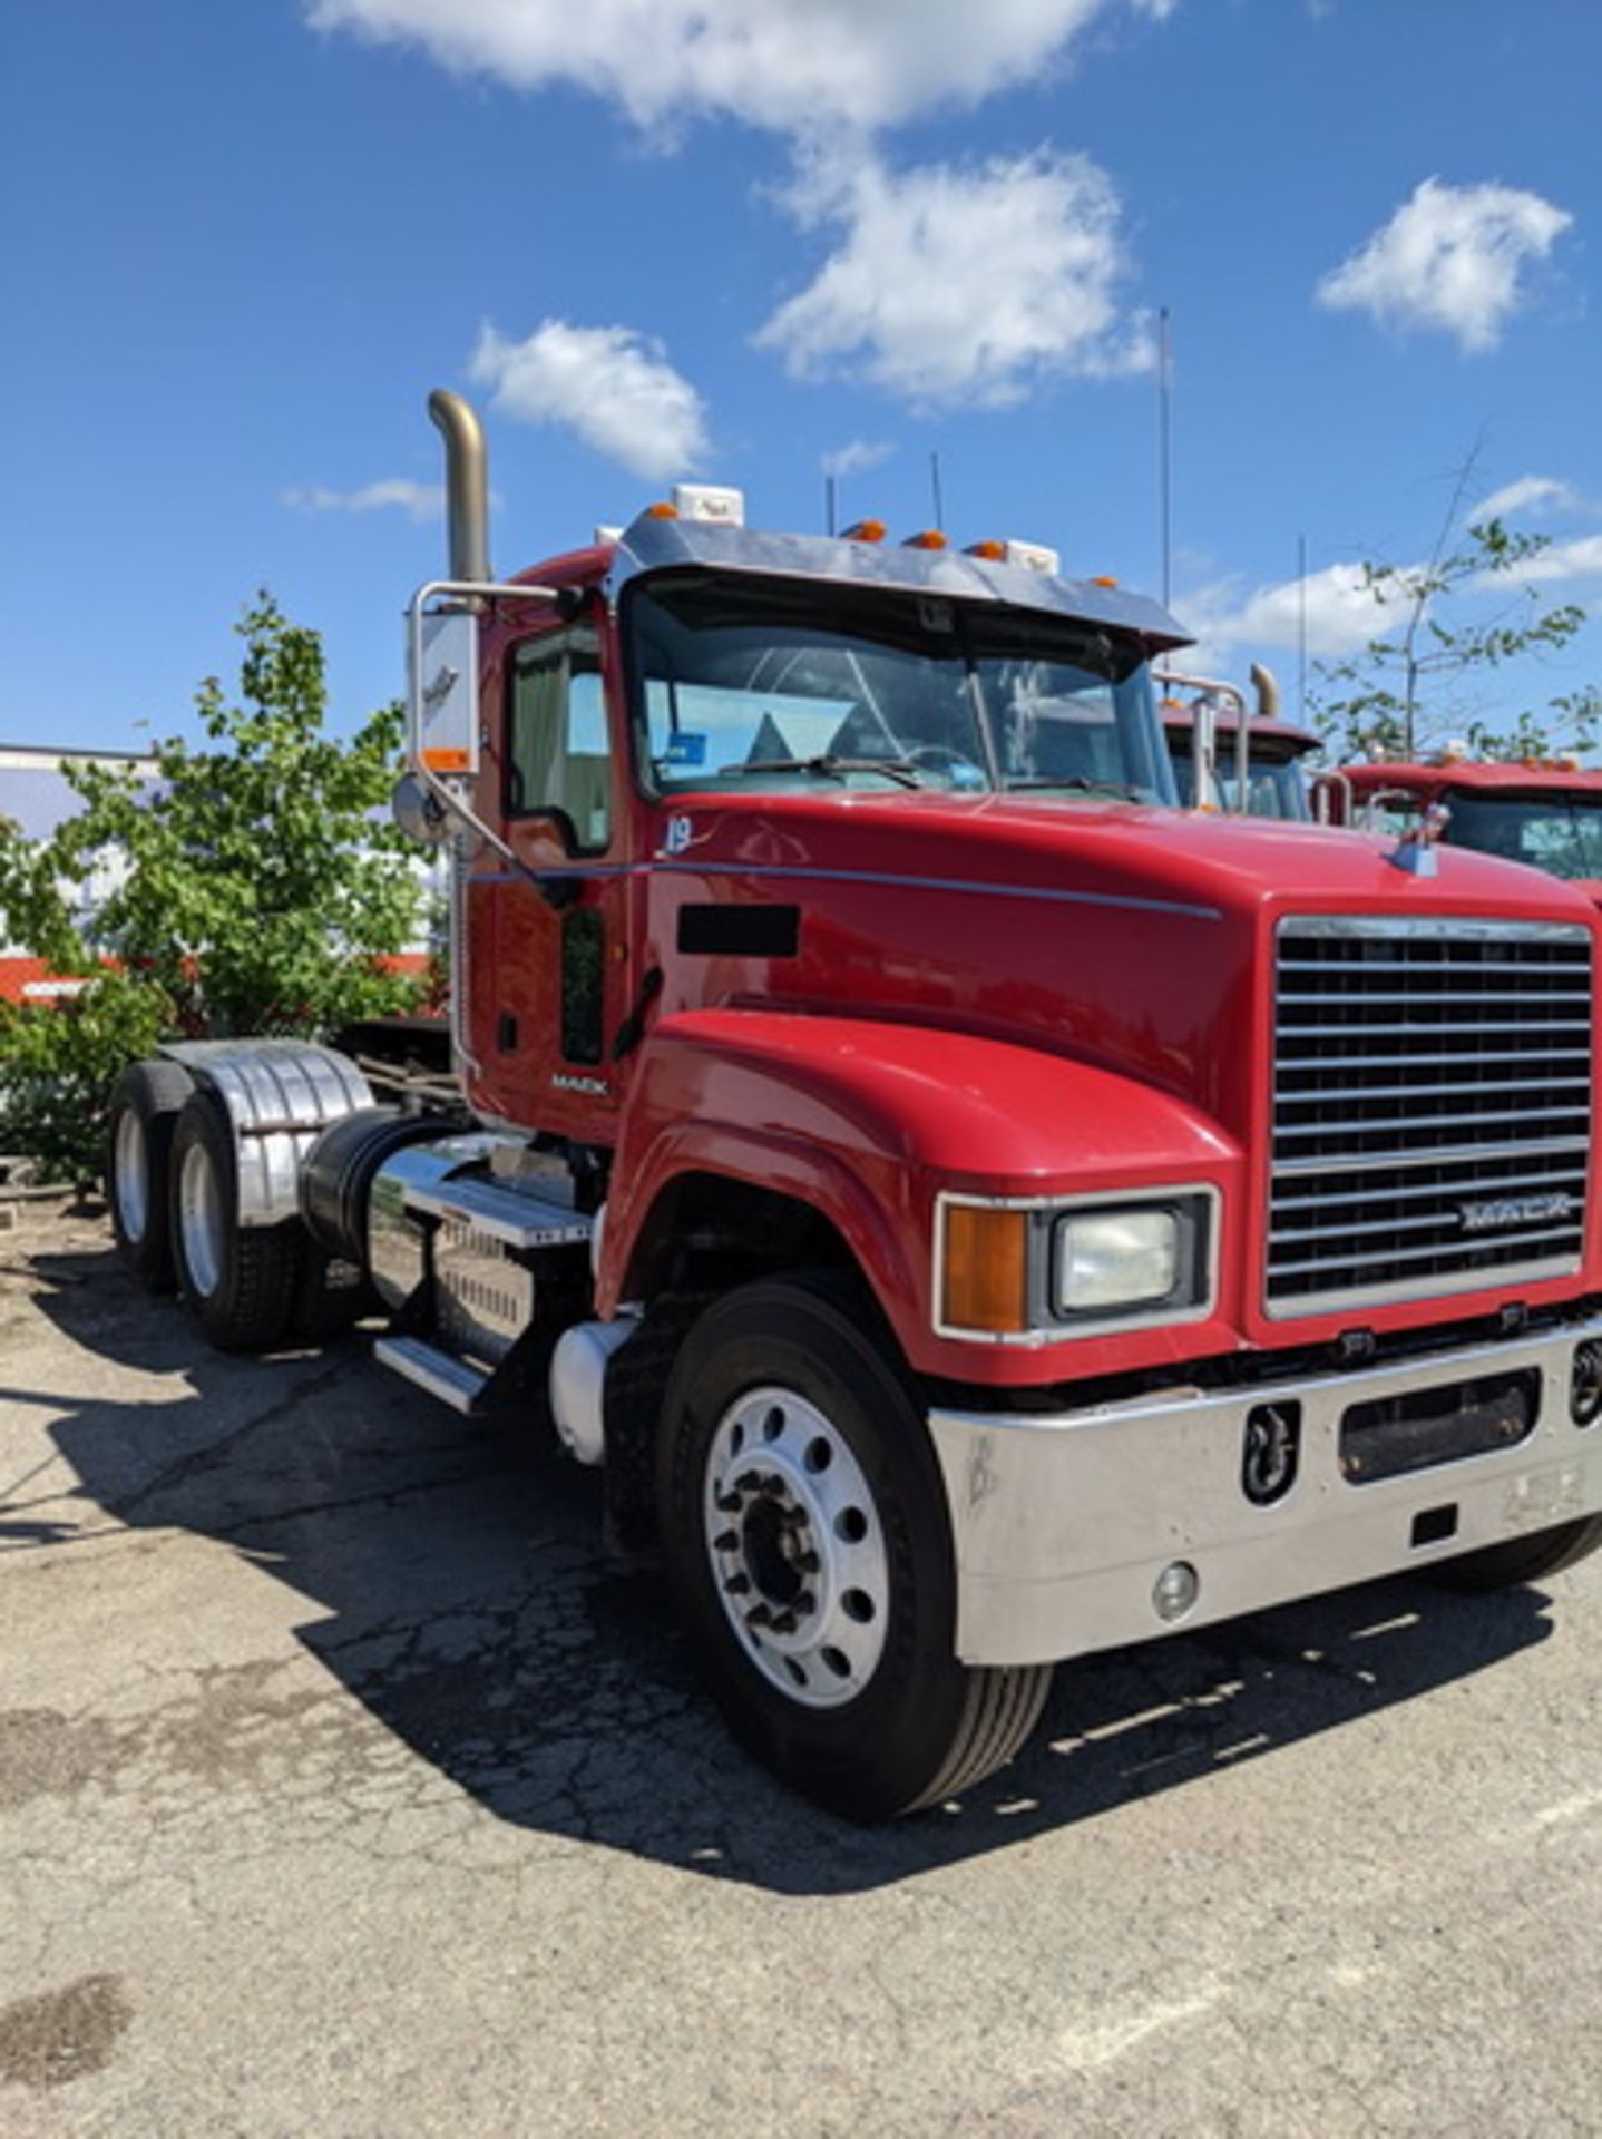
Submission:
{"label": "chrome grille with horizontal bars and MACK lettering", "polygon": [[1273,1315],[1576,1271],[1589,1140],[1589,928],[1279,924]]}

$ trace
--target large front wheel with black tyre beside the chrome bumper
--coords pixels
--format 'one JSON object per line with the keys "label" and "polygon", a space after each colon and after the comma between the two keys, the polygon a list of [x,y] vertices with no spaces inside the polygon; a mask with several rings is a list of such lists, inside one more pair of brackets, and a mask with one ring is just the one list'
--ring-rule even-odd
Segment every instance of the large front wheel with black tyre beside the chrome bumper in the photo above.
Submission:
{"label": "large front wheel with black tyre beside the chrome bumper", "polygon": [[663,1403],[669,1583],[736,1735],[856,1820],[939,1803],[1029,1737],[1050,1666],[954,1656],[928,1431],[856,1298],[764,1281],[691,1328]]}

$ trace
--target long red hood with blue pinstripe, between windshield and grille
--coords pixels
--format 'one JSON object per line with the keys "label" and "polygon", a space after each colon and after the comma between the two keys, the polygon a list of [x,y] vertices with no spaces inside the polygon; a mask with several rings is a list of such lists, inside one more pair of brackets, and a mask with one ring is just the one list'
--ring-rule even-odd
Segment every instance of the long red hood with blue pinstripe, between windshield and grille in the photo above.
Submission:
{"label": "long red hood with blue pinstripe, between windshield and grille", "polygon": [[[1260,1102],[1273,930],[1292,913],[1591,924],[1574,886],[1437,847],[1273,819],[1010,796],[682,800],[652,871],[663,1007],[905,1016],[1042,1046],[1202,1106],[1243,1142]],[[704,915],[783,909],[753,956]],[[680,909],[699,907],[684,926]],[[695,952],[680,952],[695,943]]]}

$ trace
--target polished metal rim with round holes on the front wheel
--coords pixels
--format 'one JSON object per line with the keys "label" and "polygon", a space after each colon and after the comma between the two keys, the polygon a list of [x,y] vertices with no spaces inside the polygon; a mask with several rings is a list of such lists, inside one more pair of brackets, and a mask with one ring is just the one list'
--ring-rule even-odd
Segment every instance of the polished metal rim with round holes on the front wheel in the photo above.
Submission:
{"label": "polished metal rim with round holes on the front wheel", "polygon": [[836,1709],[890,1630],[883,1523],[851,1444],[794,1388],[746,1390],[717,1425],[702,1502],[719,1604],[789,1701]]}

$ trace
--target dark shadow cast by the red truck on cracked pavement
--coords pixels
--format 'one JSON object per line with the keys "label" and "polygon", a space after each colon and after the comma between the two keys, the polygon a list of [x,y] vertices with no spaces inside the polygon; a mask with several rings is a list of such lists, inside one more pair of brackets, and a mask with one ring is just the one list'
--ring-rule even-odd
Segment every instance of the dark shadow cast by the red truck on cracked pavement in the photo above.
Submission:
{"label": "dark shadow cast by the red truck on cracked pavement", "polygon": [[[712,1878],[796,1895],[894,1884],[1356,1724],[1551,1632],[1540,1591],[1392,1581],[1091,1658],[1059,1673],[1027,1752],[967,1801],[851,1829],[731,1743],[657,1576],[605,1564],[592,1474],[462,1422],[372,1365],[361,1335],[222,1358],[109,1251],[34,1268],[45,1318],[92,1354],[81,1378],[105,1363],[120,1395],[0,1386],[0,1410],[56,1414],[77,1480],[45,1455],[6,1482],[0,1553],[71,1553],[124,1527],[218,1540],[306,1598],[295,1636],[329,1694],[349,1690],[357,1720],[391,1735],[344,1733],[342,1760],[394,1765],[400,1741],[500,1822]],[[246,1696],[231,1728],[269,1733],[272,1713]]]}

